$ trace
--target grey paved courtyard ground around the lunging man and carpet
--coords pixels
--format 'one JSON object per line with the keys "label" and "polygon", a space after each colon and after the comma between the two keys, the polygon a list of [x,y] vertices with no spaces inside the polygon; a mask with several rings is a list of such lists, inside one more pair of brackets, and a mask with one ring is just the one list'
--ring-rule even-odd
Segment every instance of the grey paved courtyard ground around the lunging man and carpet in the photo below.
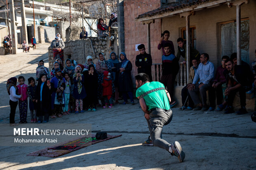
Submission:
{"label": "grey paved courtyard ground around the lunging man and carpet", "polygon": [[[6,81],[24,75],[36,77],[37,61],[45,59],[47,47],[40,44],[30,53],[0,56],[0,123],[9,123],[9,95]],[[27,81],[25,82],[27,84]],[[183,163],[164,149],[142,146],[149,132],[143,112],[136,105],[115,105],[112,109],[97,108],[96,112],[71,114],[50,119],[49,123],[90,123],[92,133],[107,131],[119,135],[111,140],[93,144],[58,158],[26,156],[45,147],[0,146],[0,169],[221,169],[247,170],[256,168],[256,123],[251,112],[244,115],[223,112],[194,112],[172,109],[173,119],[164,126],[163,138],[168,142],[179,141],[186,154]],[[30,116],[28,114],[28,120]],[[15,115],[19,122],[19,109]],[[24,127],[20,124],[17,127]],[[38,124],[40,126],[40,124]],[[50,145],[51,146],[51,145]]]}

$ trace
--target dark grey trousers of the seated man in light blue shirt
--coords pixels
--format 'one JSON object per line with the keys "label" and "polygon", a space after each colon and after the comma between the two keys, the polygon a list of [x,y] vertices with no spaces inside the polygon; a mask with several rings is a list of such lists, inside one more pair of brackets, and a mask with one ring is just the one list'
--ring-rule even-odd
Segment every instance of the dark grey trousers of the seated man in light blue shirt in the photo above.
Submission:
{"label": "dark grey trousers of the seated man in light blue shirt", "polygon": [[[200,99],[199,99],[199,95],[198,95],[198,92],[202,98],[202,104],[203,105],[207,105],[206,104],[206,101],[207,101],[207,95],[206,95],[206,91],[209,90],[211,88],[211,83],[208,83],[208,84],[204,84],[204,86],[201,86],[201,88],[199,88],[199,84],[197,83],[195,85],[195,88],[194,90],[189,90],[188,92],[190,93],[190,97],[192,98],[193,102],[195,105],[201,103]],[[215,98],[214,98],[215,100]],[[211,104],[211,102],[210,102]],[[214,105],[214,104],[213,104]]]}

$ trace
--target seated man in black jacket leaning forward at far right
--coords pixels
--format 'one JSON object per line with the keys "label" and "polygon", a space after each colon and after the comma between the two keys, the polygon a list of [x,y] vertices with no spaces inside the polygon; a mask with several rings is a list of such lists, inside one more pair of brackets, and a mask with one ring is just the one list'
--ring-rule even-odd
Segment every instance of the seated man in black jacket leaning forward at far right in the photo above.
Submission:
{"label": "seated man in black jacket leaning forward at far right", "polygon": [[235,65],[234,61],[225,61],[227,70],[224,71],[228,88],[225,90],[225,96],[227,96],[228,109],[225,114],[234,113],[232,103],[235,98],[235,94],[239,92],[241,109],[238,110],[237,115],[248,113],[245,109],[246,105],[246,91],[251,89],[254,81],[254,76],[248,68],[244,65]]}

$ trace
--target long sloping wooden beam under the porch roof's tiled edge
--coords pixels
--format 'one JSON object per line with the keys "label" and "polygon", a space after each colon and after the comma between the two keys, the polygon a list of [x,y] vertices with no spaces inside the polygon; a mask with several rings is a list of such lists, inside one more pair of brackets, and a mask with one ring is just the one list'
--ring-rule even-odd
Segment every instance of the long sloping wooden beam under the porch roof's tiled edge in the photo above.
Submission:
{"label": "long sloping wooden beam under the porch roof's tiled edge", "polygon": [[204,4],[198,5],[196,7],[189,7],[189,8],[185,8],[185,9],[179,9],[179,10],[176,10],[173,12],[165,12],[160,15],[154,15],[154,16],[150,16],[150,17],[135,19],[135,21],[147,21],[147,20],[152,20],[152,19],[161,19],[161,18],[173,16],[174,14],[180,14],[183,12],[201,10],[201,9],[204,9],[207,7],[211,7],[213,5],[223,4],[223,3],[227,3],[227,2],[232,2],[232,0],[217,0],[217,1],[209,2],[209,3],[204,3]]}

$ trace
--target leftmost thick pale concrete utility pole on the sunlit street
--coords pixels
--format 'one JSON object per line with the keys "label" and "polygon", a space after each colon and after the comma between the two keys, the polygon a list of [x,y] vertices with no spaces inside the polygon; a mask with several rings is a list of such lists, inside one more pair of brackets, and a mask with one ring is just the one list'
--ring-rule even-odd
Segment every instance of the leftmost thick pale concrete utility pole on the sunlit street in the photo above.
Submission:
{"label": "leftmost thick pale concrete utility pole on the sunlit street", "polygon": [[17,54],[17,39],[16,39],[16,24],[15,24],[15,11],[14,11],[14,2],[10,0],[10,14],[11,14],[11,35],[12,35],[12,54]]}

